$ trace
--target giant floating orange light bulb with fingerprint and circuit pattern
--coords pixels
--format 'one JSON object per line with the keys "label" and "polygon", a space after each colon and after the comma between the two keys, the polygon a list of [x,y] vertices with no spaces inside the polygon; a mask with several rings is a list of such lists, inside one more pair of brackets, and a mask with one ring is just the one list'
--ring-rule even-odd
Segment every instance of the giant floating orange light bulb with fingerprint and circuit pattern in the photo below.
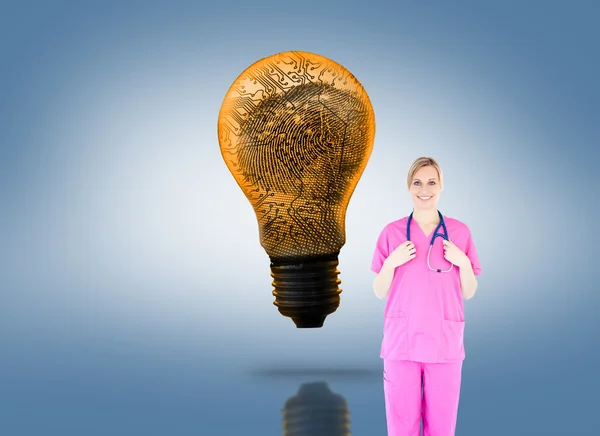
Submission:
{"label": "giant floating orange light bulb with fingerprint and circuit pattern", "polygon": [[369,96],[330,59],[278,53],[231,85],[218,138],[258,219],[273,304],[298,328],[322,327],[340,303],[346,209],[373,149]]}

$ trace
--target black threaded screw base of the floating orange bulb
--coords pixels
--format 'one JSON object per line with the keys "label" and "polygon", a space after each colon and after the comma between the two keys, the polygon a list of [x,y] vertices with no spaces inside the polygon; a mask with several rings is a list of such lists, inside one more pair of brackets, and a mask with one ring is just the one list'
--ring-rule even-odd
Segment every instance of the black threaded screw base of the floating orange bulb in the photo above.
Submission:
{"label": "black threaded screw base of the floating orange bulb", "polygon": [[338,258],[271,263],[273,295],[279,312],[294,321],[297,328],[323,327],[327,315],[340,305]]}

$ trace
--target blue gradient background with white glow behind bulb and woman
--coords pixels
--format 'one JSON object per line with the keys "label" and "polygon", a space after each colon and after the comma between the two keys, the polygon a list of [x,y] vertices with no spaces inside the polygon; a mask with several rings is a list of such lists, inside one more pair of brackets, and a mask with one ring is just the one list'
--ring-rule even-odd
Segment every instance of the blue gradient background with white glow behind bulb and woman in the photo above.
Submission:
{"label": "blue gradient background with white glow behind bulb and woman", "polygon": [[[483,267],[457,434],[597,433],[598,8],[416,3],[2,3],[0,434],[280,435],[323,380],[385,435],[369,267],[420,155]],[[286,50],[350,69],[377,120],[316,330],[272,305],[216,136],[233,80]]]}

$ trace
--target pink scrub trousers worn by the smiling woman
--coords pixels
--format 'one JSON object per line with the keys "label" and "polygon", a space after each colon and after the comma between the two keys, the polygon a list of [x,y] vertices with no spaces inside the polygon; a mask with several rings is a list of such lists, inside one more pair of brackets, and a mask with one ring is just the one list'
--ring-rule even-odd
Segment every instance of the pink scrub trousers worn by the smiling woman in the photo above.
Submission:
{"label": "pink scrub trousers worn by the smiling woman", "polygon": [[388,436],[454,436],[462,361],[383,360]]}

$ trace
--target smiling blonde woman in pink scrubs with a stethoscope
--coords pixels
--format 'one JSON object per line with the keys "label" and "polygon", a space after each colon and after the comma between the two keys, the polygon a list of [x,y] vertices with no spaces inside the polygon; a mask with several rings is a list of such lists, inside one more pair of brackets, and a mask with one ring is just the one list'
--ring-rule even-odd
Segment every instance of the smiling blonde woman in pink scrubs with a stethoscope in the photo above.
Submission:
{"label": "smiling blonde woman in pink scrubs with a stethoscope", "polygon": [[[407,184],[413,212],[385,226],[371,265],[375,294],[387,297],[381,357],[388,436],[418,436],[421,419],[424,436],[453,436],[463,299],[475,294],[481,268],[469,228],[437,209],[443,179],[435,159],[417,159]],[[434,238],[444,227],[449,240]]]}

